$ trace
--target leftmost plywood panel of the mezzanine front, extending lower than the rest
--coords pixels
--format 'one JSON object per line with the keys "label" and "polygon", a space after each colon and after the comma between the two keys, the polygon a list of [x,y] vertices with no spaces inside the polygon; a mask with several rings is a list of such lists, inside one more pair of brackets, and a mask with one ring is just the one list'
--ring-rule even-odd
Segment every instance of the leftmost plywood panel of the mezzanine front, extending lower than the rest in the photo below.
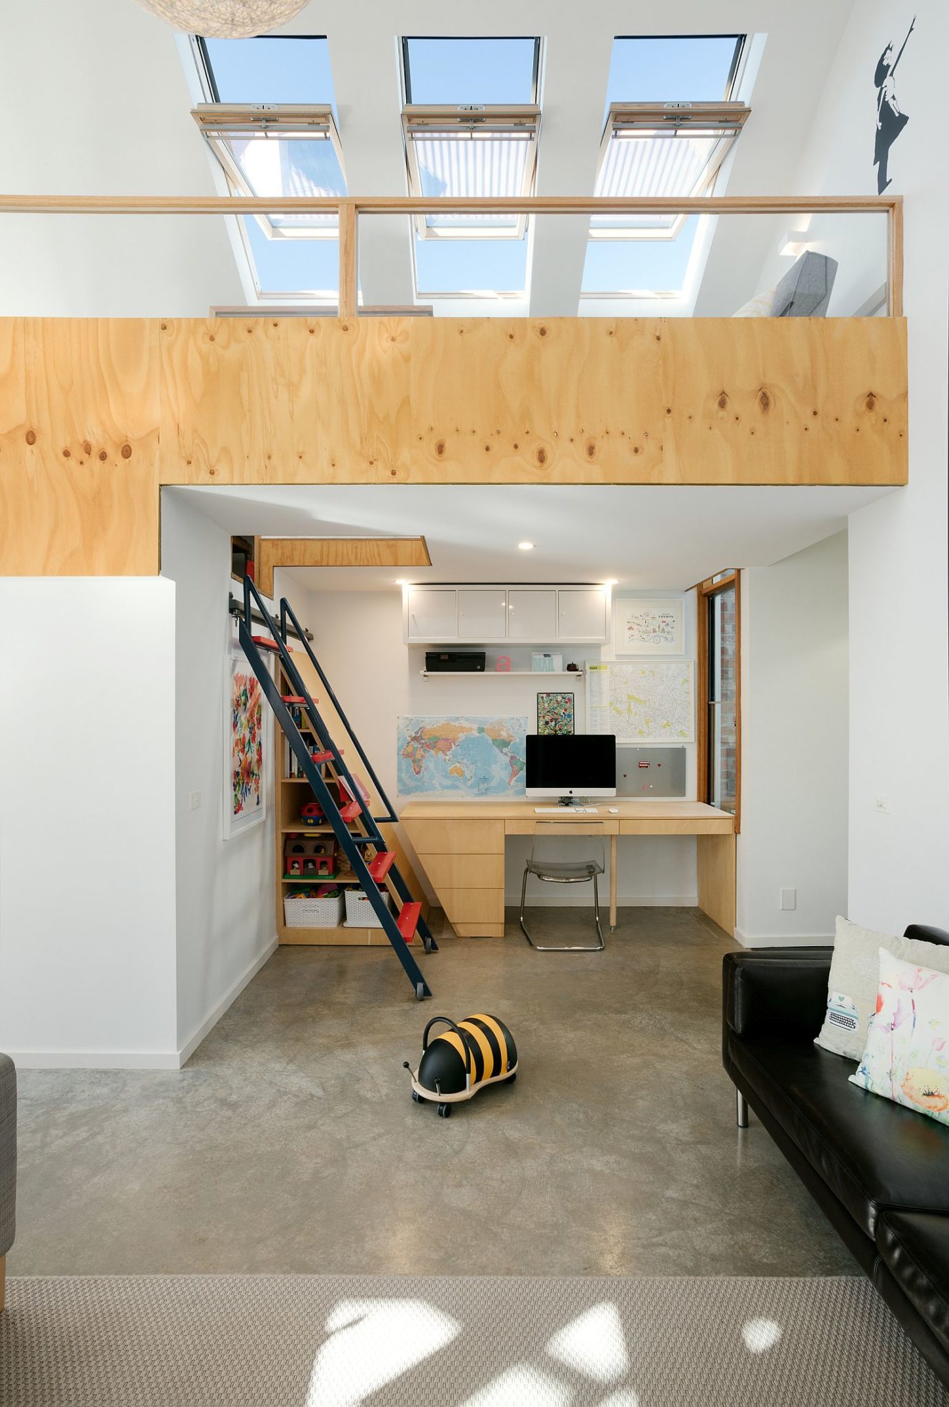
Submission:
{"label": "leftmost plywood panel of the mezzanine front, extending lower than the rest", "polygon": [[0,319],[0,574],[158,571],[158,391],[155,322]]}

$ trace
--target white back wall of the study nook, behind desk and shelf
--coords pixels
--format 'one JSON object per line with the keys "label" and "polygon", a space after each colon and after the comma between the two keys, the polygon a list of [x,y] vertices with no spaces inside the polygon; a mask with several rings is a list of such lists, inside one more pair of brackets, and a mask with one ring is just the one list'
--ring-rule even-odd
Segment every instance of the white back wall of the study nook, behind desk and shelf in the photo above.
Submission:
{"label": "white back wall of the study nook, behind desk and shelf", "polygon": [[[294,573],[284,574],[286,592],[301,608],[297,615],[314,630],[314,650],[359,740],[369,753],[379,778],[398,810],[396,778],[396,720],[401,713],[417,715],[521,715],[536,719],[538,681],[532,678],[422,680],[424,647],[403,644],[401,597],[391,591],[310,592],[294,585]],[[669,595],[669,592],[641,592]],[[694,604],[687,597],[686,649],[693,653]],[[296,609],[296,605],[294,605]],[[539,643],[539,642],[538,642]],[[559,647],[558,647],[559,649]],[[489,660],[496,653],[490,651]],[[529,668],[529,647],[520,656],[508,650],[515,668]],[[586,658],[612,658],[610,647],[563,647],[565,664]],[[489,664],[490,668],[490,664]],[[558,688],[570,688],[556,680]],[[576,726],[586,729],[583,680],[573,688]],[[694,796],[694,747],[687,758],[689,795]],[[477,802],[473,802],[477,805]],[[507,846],[507,898],[520,899],[521,874],[529,841],[513,837]],[[410,847],[407,847],[410,848]],[[411,853],[411,851],[410,851]],[[621,903],[696,903],[696,843],[690,837],[625,837],[620,841],[618,895]],[[607,871],[608,874],[608,871]],[[552,885],[528,889],[535,902],[590,903],[589,891],[567,893]],[[605,886],[604,886],[605,893]],[[431,898],[431,893],[429,893]]]}

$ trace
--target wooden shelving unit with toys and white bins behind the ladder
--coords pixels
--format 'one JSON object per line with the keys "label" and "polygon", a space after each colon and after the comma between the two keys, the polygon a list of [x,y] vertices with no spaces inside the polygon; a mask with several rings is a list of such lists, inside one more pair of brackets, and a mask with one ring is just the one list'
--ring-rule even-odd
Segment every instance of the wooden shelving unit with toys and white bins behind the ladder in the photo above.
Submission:
{"label": "wooden shelving unit with toys and white bins behind the ladder", "polygon": [[[297,668],[301,673],[304,673],[304,670],[306,670],[306,660],[300,660],[300,657],[296,657],[294,663],[296,663]],[[282,667],[282,664],[280,664],[279,660],[276,661],[275,667],[277,670],[277,682],[279,682],[280,692],[282,694],[290,694],[291,692],[290,682],[287,681],[286,675],[283,674],[283,667]],[[307,677],[306,673],[304,673],[304,677]],[[315,678],[308,680],[308,677],[307,677],[307,688],[310,689],[311,696],[315,699],[317,708],[321,709],[321,715],[325,718],[325,715],[322,713],[322,708],[321,708],[320,699],[318,699],[318,692],[320,692],[318,681]],[[329,726],[332,726],[332,723]],[[275,806],[276,806],[276,823],[275,823],[275,827],[273,827],[275,829],[275,837],[276,837],[276,885],[275,885],[275,888],[276,888],[276,920],[277,920],[277,940],[279,940],[279,943],[280,944],[293,944],[293,946],[298,946],[298,947],[363,947],[363,948],[365,947],[389,947],[389,938],[386,937],[384,931],[382,929],[377,929],[377,927],[352,927],[352,929],[349,929],[349,927],[344,927],[342,924],[339,924],[337,927],[327,927],[327,929],[322,929],[322,927],[296,929],[296,927],[289,927],[287,926],[284,915],[283,915],[283,899],[284,899],[284,895],[287,892],[290,892],[294,885],[296,886],[300,886],[300,885],[315,886],[315,885],[320,885],[320,884],[358,885],[359,881],[349,871],[348,865],[346,865],[346,870],[344,872],[341,872],[339,875],[337,875],[334,879],[322,879],[322,878],[315,878],[315,877],[304,877],[304,878],[293,877],[293,878],[287,878],[286,870],[284,870],[284,848],[286,848],[286,839],[287,839],[287,836],[297,836],[297,834],[303,834],[303,836],[307,836],[307,834],[315,834],[315,836],[324,834],[325,836],[325,834],[332,834],[332,826],[329,826],[329,825],[325,825],[325,826],[304,826],[303,825],[303,822],[300,819],[300,810],[306,805],[307,801],[314,799],[313,798],[313,791],[310,788],[310,782],[307,781],[306,777],[287,777],[287,763],[289,763],[289,751],[290,751],[290,749],[289,749],[289,743],[287,743],[286,737],[283,736],[283,732],[279,727],[276,727],[276,726],[273,729],[273,741],[275,741],[275,754],[276,754],[275,756],[275,787],[273,787]],[[338,782],[337,782],[337,774],[335,774],[332,763],[322,763],[321,765],[322,765],[322,774],[327,778],[327,781],[329,782],[329,785],[332,785],[332,787],[338,785]],[[362,827],[360,822],[359,822],[359,817],[356,817],[356,820],[353,820],[351,823],[349,829],[352,830],[353,834],[365,834],[366,833],[365,829]],[[389,839],[389,836],[387,836],[386,843],[391,844],[391,840]],[[369,854],[372,855],[372,850],[369,850]],[[398,854],[398,867],[403,871],[403,875],[407,875],[408,884],[413,886],[413,889],[415,889],[415,885],[413,884],[414,875],[411,875],[411,870],[407,874],[407,870],[406,870],[406,867],[403,864],[401,853]],[[390,892],[393,892],[391,886],[389,886],[389,888],[390,888]],[[393,902],[394,902],[394,908],[396,908],[396,912],[397,912],[398,910],[398,905],[401,903],[401,900],[398,900],[397,898],[394,898]],[[421,947],[421,943],[418,940],[415,940],[411,944],[411,947]]]}

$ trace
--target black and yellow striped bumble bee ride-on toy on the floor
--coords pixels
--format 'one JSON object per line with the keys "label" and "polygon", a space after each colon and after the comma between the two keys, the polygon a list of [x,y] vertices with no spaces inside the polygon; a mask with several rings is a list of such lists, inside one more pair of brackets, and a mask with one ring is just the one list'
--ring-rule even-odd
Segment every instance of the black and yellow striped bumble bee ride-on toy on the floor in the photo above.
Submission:
{"label": "black and yellow striped bumble bee ride-on toy on the floor", "polygon": [[[448,1030],[429,1041],[428,1033],[439,1021]],[[432,1016],[422,1034],[418,1069],[408,1061],[403,1067],[411,1074],[415,1103],[431,1100],[441,1117],[448,1119],[452,1104],[472,1099],[486,1085],[517,1079],[517,1045],[497,1016],[467,1016],[458,1026],[448,1016]]]}

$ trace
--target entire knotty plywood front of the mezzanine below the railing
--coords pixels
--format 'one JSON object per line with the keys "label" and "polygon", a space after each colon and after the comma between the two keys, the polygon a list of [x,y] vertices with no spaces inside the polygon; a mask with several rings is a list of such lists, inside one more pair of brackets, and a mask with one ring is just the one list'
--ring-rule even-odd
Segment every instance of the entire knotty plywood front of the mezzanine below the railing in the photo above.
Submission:
{"label": "entire knotty plywood front of the mezzanine below the railing", "polygon": [[0,319],[0,573],[153,574],[162,484],[903,484],[901,318]]}

